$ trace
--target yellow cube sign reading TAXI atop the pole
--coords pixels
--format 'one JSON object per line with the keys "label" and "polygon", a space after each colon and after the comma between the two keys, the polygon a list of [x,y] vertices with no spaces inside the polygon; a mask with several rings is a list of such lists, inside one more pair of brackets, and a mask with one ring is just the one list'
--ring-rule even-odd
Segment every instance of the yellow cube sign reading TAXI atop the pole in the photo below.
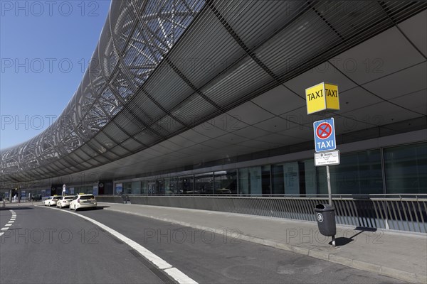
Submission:
{"label": "yellow cube sign reading TAXI atop the pole", "polygon": [[305,99],[307,102],[307,114],[314,114],[317,111],[339,110],[338,86],[322,82],[305,89]]}

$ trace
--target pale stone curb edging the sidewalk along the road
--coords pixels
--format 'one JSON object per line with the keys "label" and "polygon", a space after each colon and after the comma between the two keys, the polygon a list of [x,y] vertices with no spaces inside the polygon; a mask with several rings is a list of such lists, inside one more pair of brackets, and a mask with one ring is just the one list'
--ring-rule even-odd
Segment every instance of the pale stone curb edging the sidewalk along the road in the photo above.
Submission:
{"label": "pale stone curb edging the sidewalk along the road", "polygon": [[[190,224],[187,222],[181,222],[181,221],[177,221],[174,219],[162,218],[162,217],[157,217],[157,216],[151,216],[151,215],[147,216],[147,215],[137,213],[137,212],[124,211],[124,210],[120,210],[120,209],[112,209],[111,207],[108,208],[107,210],[137,215],[137,216],[141,216],[141,217],[147,217],[150,219],[156,219],[159,221],[169,222],[172,224],[179,224],[181,226],[189,226],[189,227],[194,228],[194,229],[200,229],[200,230],[204,230],[204,231],[212,231],[215,234],[224,234],[223,229],[215,229],[215,228],[210,228],[208,226],[199,226],[199,225],[194,225],[194,224]],[[224,229],[226,229],[226,228],[224,228]],[[427,283],[427,275],[422,275],[420,273],[410,273],[407,271],[400,271],[399,269],[396,269],[396,268],[379,266],[378,264],[375,264],[375,263],[369,263],[366,261],[358,261],[357,259],[354,259],[354,258],[337,256],[333,253],[327,253],[325,251],[317,251],[315,249],[306,249],[306,248],[302,248],[300,246],[283,244],[283,243],[280,243],[278,241],[261,239],[261,238],[258,238],[256,236],[250,236],[250,235],[243,234],[243,233],[241,233],[241,235],[239,236],[239,239],[241,239],[243,241],[251,241],[252,243],[261,244],[263,246],[270,246],[270,247],[273,247],[275,249],[282,249],[284,251],[292,251],[294,253],[299,253],[299,254],[302,254],[305,256],[311,256],[313,258],[319,258],[319,259],[322,259],[323,261],[330,261],[332,263],[341,264],[343,266],[348,266],[348,267],[355,268],[355,269],[358,269],[361,271],[368,271],[371,273],[377,273],[379,275],[388,276],[391,278],[403,280],[403,281],[410,282],[410,283],[419,283],[419,284],[426,284]]]}

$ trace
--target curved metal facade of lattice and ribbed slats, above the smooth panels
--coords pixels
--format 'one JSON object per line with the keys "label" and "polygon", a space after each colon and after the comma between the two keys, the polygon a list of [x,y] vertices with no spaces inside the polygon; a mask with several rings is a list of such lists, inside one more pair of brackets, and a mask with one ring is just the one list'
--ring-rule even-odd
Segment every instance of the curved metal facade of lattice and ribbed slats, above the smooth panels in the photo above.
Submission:
{"label": "curved metal facade of lattice and ribbed slats, above the smooth panels", "polygon": [[[113,1],[78,91],[46,131],[2,151],[2,180],[78,173],[147,149],[283,84],[426,5]],[[304,98],[295,94],[292,99]]]}

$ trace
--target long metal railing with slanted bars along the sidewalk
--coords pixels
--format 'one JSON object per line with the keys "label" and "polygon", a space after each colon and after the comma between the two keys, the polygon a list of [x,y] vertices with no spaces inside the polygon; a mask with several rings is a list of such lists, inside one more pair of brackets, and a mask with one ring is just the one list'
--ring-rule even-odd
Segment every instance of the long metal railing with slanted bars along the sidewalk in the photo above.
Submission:
{"label": "long metal railing with slanted bars along the sidewalk", "polygon": [[[100,195],[100,202],[122,203],[120,195]],[[316,204],[327,195],[238,197],[128,195],[132,204],[204,209],[315,222]],[[337,224],[427,233],[427,195],[334,195]]]}

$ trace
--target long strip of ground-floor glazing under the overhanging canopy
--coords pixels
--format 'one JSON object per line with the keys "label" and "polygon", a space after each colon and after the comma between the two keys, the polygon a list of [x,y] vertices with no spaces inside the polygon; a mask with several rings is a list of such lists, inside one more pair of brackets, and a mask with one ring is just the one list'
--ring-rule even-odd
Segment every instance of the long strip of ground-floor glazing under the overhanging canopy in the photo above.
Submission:
{"label": "long strip of ground-floor glazing under the overhanging canopy", "polygon": [[[342,153],[330,175],[332,194],[427,193],[427,143]],[[312,159],[121,184],[134,195],[327,194],[326,167]]]}

